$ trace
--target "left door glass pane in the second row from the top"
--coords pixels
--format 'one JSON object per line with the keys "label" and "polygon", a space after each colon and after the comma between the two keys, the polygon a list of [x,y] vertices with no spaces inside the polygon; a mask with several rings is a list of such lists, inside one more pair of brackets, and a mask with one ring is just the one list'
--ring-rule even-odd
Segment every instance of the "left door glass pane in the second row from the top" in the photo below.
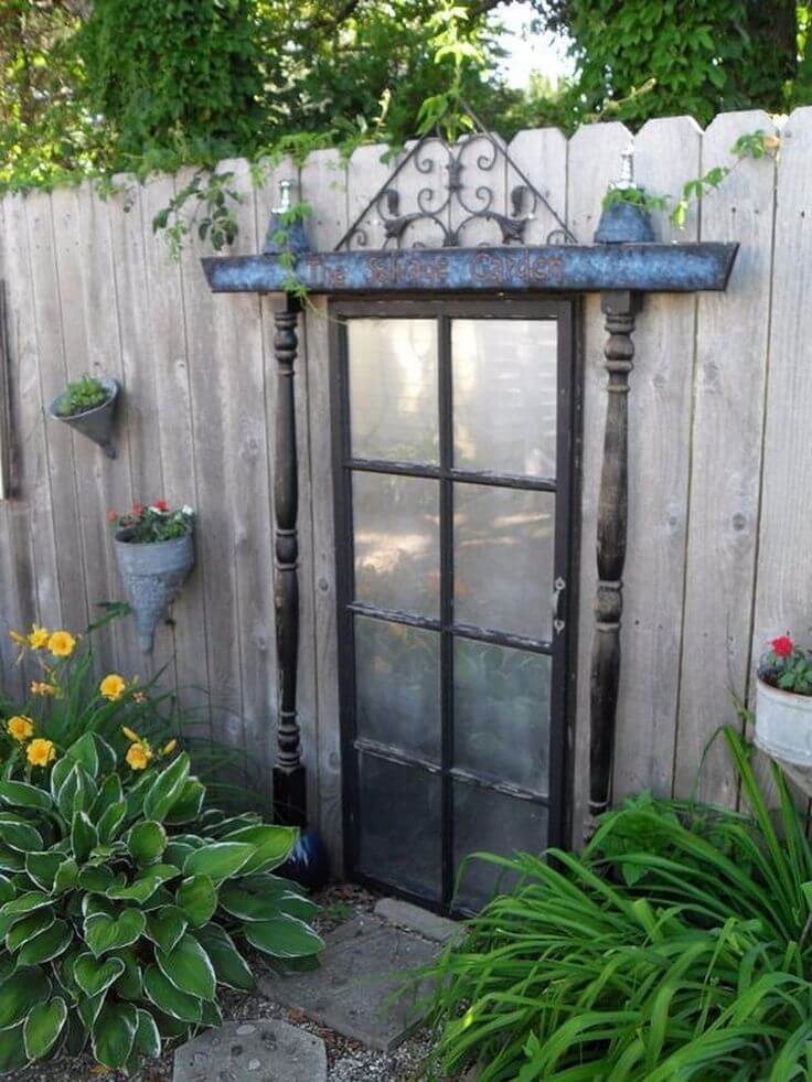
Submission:
{"label": "left door glass pane in the second row from the top", "polygon": [[437,617],[439,485],[424,478],[354,473],[355,598]]}

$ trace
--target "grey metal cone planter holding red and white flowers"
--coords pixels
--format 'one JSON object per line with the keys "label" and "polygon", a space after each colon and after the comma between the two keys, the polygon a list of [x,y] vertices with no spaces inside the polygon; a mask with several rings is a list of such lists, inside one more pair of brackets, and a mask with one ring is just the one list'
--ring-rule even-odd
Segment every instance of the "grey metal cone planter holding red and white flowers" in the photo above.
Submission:
{"label": "grey metal cone planter holding red and white flowers", "polygon": [[116,534],[116,559],[136,619],[138,645],[151,654],[156,628],[194,567],[194,535],[164,542],[133,542],[128,535],[131,529]]}

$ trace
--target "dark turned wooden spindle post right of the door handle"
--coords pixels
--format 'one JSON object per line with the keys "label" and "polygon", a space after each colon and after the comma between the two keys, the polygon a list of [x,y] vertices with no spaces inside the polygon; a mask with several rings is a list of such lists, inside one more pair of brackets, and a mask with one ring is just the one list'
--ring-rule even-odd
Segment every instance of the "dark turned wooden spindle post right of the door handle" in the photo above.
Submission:
{"label": "dark turned wooden spindle post right of the door handle", "polygon": [[603,465],[598,500],[598,590],[590,684],[589,812],[600,815],[611,796],[615,721],[620,683],[620,620],[629,512],[629,375],[633,368],[634,317],[640,294],[601,294],[608,339],[603,346],[607,383]]}

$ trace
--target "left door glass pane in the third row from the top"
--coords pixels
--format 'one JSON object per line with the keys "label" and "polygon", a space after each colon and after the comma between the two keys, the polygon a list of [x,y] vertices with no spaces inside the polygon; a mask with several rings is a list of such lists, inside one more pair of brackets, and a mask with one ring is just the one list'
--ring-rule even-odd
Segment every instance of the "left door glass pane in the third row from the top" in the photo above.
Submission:
{"label": "left door glass pane in the third row from the top", "polygon": [[355,617],[357,733],[439,761],[440,636]]}

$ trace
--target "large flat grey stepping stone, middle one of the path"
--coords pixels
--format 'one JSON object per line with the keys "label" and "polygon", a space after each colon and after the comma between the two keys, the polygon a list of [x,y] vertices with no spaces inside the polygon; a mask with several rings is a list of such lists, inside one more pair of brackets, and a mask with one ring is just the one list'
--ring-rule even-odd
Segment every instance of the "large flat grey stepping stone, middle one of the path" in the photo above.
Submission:
{"label": "large flat grey stepping stone, middle one of the path", "polygon": [[[260,977],[261,993],[367,1048],[391,1051],[418,1025],[420,1013],[410,994],[394,1004],[387,999],[409,969],[436,956],[438,944],[371,917],[328,932],[324,944],[320,969]],[[419,996],[426,993],[424,986]]]}

